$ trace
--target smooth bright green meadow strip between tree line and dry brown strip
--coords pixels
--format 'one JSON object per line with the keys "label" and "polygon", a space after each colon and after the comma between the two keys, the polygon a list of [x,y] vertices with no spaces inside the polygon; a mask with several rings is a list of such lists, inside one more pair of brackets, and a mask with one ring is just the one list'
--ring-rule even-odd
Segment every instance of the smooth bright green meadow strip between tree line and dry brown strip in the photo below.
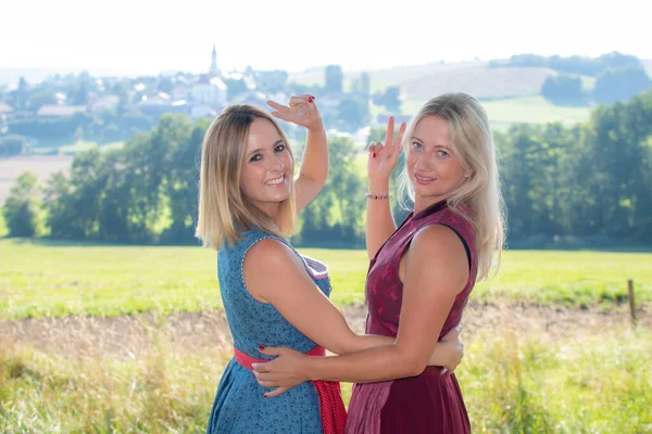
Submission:
{"label": "smooth bright green meadow strip between tree line and dry brown strip", "polygon": [[[301,250],[330,266],[333,299],[363,303],[363,251]],[[201,247],[89,246],[0,240],[0,318],[199,311],[221,308],[216,256]],[[652,301],[652,254],[506,251],[472,298],[600,306]]]}

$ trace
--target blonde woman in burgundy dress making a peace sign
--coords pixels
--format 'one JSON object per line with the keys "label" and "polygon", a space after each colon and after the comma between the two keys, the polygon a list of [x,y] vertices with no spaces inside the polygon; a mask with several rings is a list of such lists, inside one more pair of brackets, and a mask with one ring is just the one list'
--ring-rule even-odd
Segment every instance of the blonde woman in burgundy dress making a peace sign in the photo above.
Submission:
{"label": "blonde woman in burgundy dress making a peace sign", "polygon": [[[439,339],[457,326],[476,279],[486,278],[503,243],[503,205],[487,114],[465,93],[428,101],[410,128],[393,119],[385,145],[369,146],[366,332],[393,344],[335,357],[266,348],[259,382],[286,387],[308,380],[354,386],[347,433],[468,433],[454,374],[427,367]],[[405,136],[405,140],[403,140]],[[397,229],[389,178],[401,144],[413,212]]]}

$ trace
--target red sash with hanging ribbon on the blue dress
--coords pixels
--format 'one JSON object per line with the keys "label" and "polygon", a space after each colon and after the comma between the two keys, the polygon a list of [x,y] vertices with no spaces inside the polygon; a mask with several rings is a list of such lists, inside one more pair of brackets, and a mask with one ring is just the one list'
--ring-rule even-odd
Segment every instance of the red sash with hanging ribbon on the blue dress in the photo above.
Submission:
{"label": "red sash with hanging ribbon on the blue dress", "polygon": [[[251,363],[265,363],[271,360],[254,359],[248,354],[235,348],[236,361],[252,370]],[[305,354],[306,356],[325,356],[326,352],[317,346]],[[342,434],[347,424],[347,410],[342,401],[339,383],[336,381],[313,381],[312,385],[319,397],[319,412],[322,413],[322,427],[324,434]]]}

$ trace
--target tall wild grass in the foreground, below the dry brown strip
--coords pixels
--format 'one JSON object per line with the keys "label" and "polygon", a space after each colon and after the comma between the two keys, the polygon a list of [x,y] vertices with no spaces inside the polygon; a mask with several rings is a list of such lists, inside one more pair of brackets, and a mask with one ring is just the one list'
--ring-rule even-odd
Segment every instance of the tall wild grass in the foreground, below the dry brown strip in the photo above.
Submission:
{"label": "tall wild grass in the foreground, below the dry brown strip", "polygon": [[[456,375],[473,432],[652,432],[649,330],[562,341],[502,331],[466,341],[465,353]],[[0,431],[202,433],[229,358],[165,340],[123,359],[10,344],[0,353]],[[342,388],[348,403],[351,385]]]}

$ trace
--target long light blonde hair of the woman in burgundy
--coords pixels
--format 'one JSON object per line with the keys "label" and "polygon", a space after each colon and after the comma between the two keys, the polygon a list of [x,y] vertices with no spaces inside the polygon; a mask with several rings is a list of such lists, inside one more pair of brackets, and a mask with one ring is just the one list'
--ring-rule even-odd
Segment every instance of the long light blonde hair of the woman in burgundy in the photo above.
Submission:
{"label": "long light blonde hair of the woman in burgundy", "polygon": [[[498,270],[500,266],[505,238],[504,202],[487,113],[475,98],[466,93],[447,93],[432,98],[410,123],[404,135],[405,149],[410,145],[416,125],[427,116],[437,116],[448,122],[451,148],[460,158],[464,173],[469,174],[468,180],[447,197],[447,204],[473,226],[478,280],[487,279],[491,269]],[[401,188],[414,201],[414,189],[406,166],[401,174]]]}

